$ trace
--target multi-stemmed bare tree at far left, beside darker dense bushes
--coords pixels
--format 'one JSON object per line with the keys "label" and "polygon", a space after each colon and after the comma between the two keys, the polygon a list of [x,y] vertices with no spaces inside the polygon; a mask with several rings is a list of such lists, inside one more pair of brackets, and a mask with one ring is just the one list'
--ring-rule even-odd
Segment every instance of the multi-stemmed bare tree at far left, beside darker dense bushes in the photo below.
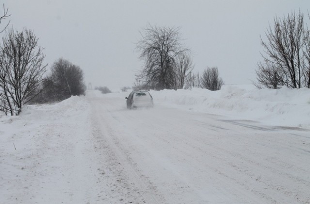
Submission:
{"label": "multi-stemmed bare tree at far left, beside darker dense bushes", "polygon": [[38,38],[30,30],[13,29],[6,33],[0,45],[0,110],[19,115],[40,85],[47,65],[38,46]]}

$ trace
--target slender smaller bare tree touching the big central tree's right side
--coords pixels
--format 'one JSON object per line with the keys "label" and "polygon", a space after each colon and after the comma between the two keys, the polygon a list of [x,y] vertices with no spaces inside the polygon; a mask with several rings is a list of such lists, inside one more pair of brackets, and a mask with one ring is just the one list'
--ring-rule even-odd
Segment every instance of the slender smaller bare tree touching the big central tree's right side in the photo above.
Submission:
{"label": "slender smaller bare tree touching the big central tree's right side", "polygon": [[186,88],[187,83],[191,80],[193,68],[193,61],[187,53],[178,56],[175,67],[177,88]]}

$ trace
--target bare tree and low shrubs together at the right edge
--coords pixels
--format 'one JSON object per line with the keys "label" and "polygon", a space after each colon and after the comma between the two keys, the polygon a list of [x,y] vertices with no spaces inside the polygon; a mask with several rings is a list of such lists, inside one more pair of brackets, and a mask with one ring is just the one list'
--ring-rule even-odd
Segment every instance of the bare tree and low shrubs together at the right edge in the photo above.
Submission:
{"label": "bare tree and low shrubs together at the right edge", "polygon": [[261,43],[263,62],[256,70],[256,86],[310,88],[310,31],[304,26],[302,13],[275,17],[274,28],[267,29],[266,40],[261,38]]}

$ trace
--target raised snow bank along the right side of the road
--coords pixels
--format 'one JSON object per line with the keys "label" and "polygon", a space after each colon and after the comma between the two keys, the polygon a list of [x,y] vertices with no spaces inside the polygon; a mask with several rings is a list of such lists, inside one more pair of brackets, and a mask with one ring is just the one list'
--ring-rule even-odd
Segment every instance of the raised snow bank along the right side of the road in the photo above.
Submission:
{"label": "raised snow bank along the right side of the road", "polygon": [[151,91],[155,104],[219,114],[228,119],[258,120],[268,125],[309,126],[310,89],[257,89],[252,85],[225,85],[219,91]]}

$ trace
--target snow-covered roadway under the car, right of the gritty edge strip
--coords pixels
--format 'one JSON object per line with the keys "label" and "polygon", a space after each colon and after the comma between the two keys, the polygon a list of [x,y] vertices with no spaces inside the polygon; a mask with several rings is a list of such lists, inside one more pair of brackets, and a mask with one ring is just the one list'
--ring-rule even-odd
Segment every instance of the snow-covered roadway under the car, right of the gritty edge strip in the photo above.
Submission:
{"label": "snow-covered roadway under the car, right of the gritty edge strip", "polygon": [[90,100],[93,121],[141,201],[310,202],[307,130],[160,105],[127,110],[122,95]]}

